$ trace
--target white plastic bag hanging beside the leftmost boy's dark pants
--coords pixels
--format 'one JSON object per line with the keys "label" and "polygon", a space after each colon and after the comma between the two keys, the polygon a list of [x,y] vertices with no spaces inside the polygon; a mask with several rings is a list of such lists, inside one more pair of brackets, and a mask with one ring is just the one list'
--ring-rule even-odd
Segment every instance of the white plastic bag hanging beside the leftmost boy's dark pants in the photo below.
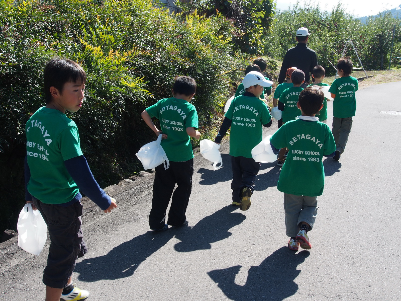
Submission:
{"label": "white plastic bag hanging beside the leftmost boy's dark pants", "polygon": [[30,203],[20,212],[17,230],[18,246],[31,254],[41,254],[47,239],[47,226],[39,210],[33,211]]}

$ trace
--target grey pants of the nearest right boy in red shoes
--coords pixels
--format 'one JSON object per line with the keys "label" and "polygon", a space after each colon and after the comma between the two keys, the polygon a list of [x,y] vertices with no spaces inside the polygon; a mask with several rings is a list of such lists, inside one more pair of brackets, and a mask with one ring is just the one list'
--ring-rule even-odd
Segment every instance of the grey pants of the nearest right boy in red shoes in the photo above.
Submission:
{"label": "grey pants of the nearest right boy in red shoes", "polygon": [[308,197],[307,195],[294,195],[284,193],[284,210],[286,212],[286,232],[288,237],[296,237],[301,222],[309,224],[309,231],[318,214],[318,197]]}

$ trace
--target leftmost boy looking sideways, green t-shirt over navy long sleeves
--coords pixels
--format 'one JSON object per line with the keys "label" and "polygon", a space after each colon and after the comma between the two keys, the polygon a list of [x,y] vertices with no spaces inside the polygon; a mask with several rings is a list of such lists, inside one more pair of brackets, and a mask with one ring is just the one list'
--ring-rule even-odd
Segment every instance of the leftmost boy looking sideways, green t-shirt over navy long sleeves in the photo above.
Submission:
{"label": "leftmost boy looking sideways, green t-shirt over navy long sleeves", "polygon": [[69,59],[52,59],[44,71],[46,106],[26,123],[25,199],[49,228],[50,247],[43,271],[46,301],[85,300],[89,292],[74,287],[75,261],[87,248],[81,230],[83,191],[104,212],[117,207],[99,187],[79,144],[78,128],[65,111],[83,103],[86,74]]}

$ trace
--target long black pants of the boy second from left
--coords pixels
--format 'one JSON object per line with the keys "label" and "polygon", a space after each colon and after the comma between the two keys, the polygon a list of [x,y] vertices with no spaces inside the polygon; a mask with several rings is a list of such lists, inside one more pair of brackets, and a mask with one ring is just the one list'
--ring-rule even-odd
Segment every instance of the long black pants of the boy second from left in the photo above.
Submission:
{"label": "long black pants of the boy second from left", "polygon": [[[166,210],[171,199],[171,207],[168,212],[167,224],[179,226],[185,222],[185,212],[188,206],[189,196],[192,191],[192,174],[194,173],[194,159],[173,162],[170,167],[164,169],[161,164],[155,168],[156,175],[153,184],[152,210],[149,214],[149,226],[151,229],[161,229],[166,220]],[[174,191],[174,186],[178,185]]]}

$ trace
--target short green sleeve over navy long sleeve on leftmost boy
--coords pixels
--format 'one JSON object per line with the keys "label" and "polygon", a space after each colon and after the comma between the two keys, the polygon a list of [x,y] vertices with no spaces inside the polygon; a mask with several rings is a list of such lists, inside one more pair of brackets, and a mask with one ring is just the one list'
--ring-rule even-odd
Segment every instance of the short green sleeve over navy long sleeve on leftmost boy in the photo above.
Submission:
{"label": "short green sleeve over navy long sleeve on leftmost boy", "polygon": [[57,142],[64,161],[82,156],[82,150],[79,144],[78,128],[76,126],[69,126],[63,130],[60,133]]}

